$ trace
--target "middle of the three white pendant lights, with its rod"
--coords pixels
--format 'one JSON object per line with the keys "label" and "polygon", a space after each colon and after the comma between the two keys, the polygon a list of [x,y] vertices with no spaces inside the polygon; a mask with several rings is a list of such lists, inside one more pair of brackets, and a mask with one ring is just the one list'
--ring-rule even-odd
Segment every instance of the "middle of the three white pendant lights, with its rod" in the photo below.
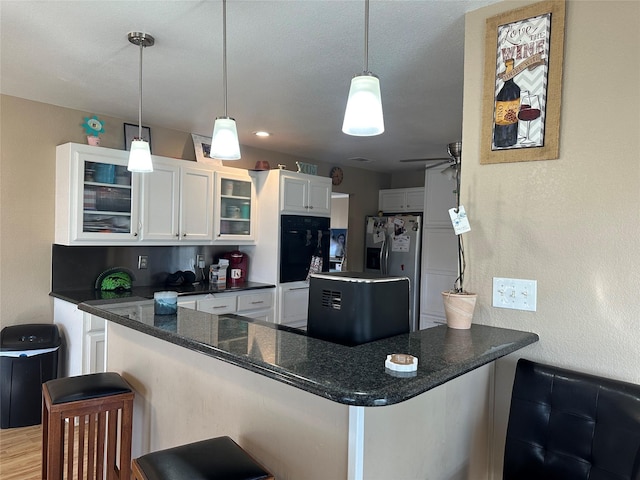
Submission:
{"label": "middle of the three white pendant lights, with its rod", "polygon": [[240,144],[235,119],[227,116],[227,0],[222,0],[222,91],[224,116],[217,117],[211,136],[211,158],[239,160]]}

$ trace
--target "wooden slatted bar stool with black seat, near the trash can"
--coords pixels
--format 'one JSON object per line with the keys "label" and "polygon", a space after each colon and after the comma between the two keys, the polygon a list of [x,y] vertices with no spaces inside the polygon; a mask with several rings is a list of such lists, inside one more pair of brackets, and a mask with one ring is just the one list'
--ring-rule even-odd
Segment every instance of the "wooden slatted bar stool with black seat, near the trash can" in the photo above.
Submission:
{"label": "wooden slatted bar stool with black seat, near the trash can", "polygon": [[62,479],[64,471],[66,478],[129,480],[133,397],[129,384],[114,372],[45,382],[43,480]]}

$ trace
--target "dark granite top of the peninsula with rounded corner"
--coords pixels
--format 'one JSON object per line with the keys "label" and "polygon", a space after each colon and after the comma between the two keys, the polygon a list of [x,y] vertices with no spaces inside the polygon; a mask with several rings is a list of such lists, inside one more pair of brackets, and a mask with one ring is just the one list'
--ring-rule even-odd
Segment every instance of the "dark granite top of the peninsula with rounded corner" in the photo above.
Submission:
{"label": "dark granite top of the peninsula with rounded corner", "polygon": [[[347,347],[308,337],[301,330],[236,315],[213,315],[182,307],[176,315],[154,315],[153,301],[143,298],[96,300],[78,308],[355,406],[408,400],[538,341],[535,333],[517,330],[484,325],[454,330],[441,325]],[[401,377],[386,370],[386,356],[392,353],[418,357],[415,375]]]}

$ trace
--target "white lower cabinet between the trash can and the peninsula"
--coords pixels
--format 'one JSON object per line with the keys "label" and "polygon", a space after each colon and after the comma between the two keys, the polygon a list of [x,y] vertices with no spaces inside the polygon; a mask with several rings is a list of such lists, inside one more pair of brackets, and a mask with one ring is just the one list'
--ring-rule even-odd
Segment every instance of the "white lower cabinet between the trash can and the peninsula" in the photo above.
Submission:
{"label": "white lower cabinet between the trash can and the peninsula", "polygon": [[104,372],[107,339],[105,320],[78,310],[78,306],[55,298],[54,323],[64,337],[64,376]]}

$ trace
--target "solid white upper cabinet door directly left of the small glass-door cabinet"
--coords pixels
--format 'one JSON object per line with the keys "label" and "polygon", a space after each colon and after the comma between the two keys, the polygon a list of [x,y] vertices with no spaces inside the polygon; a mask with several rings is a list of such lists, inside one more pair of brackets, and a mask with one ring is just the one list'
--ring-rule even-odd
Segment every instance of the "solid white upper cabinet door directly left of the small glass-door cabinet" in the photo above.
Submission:
{"label": "solid white upper cabinet door directly left of the small glass-door cabinet", "polygon": [[180,169],[180,240],[213,240],[213,172]]}

